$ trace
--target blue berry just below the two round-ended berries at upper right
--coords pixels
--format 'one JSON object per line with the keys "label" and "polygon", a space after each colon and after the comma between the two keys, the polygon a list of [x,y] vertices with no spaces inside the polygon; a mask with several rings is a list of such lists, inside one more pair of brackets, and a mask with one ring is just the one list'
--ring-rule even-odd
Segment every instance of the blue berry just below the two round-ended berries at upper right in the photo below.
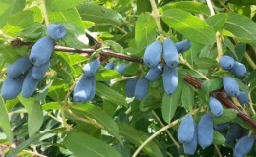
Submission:
{"label": "blue berry just below the two round-ended berries at upper right", "polygon": [[239,85],[234,78],[224,77],[223,78],[224,91],[231,97],[236,97],[239,95]]}

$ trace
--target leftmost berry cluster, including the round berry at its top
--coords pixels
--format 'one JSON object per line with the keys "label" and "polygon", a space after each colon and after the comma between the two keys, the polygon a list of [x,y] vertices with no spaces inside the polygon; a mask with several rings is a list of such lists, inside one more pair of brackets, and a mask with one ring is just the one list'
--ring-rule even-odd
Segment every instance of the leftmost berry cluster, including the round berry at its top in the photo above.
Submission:
{"label": "leftmost berry cluster, including the round berry at its top", "polygon": [[50,57],[54,50],[54,40],[66,36],[64,26],[51,24],[47,27],[49,36],[42,37],[33,46],[29,56],[19,58],[7,70],[1,94],[4,99],[13,99],[20,92],[28,98],[32,96],[39,81],[50,67]]}

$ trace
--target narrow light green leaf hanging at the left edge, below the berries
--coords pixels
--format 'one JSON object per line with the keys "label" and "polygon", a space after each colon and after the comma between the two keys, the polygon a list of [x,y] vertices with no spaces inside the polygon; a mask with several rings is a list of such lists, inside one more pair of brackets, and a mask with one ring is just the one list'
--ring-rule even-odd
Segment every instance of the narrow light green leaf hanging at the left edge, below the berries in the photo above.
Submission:
{"label": "narrow light green leaf hanging at the left edge, below the berries", "polygon": [[5,107],[5,102],[2,96],[0,95],[0,127],[6,133],[9,143],[13,141],[13,131],[11,129],[10,120],[8,117],[8,112]]}

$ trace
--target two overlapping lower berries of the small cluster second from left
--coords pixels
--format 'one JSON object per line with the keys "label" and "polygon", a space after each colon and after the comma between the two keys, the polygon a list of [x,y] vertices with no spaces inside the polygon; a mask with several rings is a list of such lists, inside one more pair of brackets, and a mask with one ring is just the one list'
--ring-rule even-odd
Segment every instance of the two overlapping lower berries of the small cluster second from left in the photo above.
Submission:
{"label": "two overlapping lower berries of the small cluster second from left", "polygon": [[95,78],[82,76],[79,78],[74,91],[73,99],[74,102],[87,102],[92,99],[92,90],[94,88]]}

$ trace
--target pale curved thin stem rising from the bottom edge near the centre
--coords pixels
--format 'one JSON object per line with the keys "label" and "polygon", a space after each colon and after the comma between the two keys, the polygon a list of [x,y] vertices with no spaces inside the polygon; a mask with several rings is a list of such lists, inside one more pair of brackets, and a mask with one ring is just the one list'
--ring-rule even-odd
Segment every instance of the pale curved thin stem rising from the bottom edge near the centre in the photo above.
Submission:
{"label": "pale curved thin stem rising from the bottom edge near the centre", "polygon": [[156,131],[154,134],[152,134],[149,138],[147,138],[140,146],[139,148],[134,152],[132,157],[136,157],[139,152],[143,149],[144,146],[146,146],[152,139],[154,139],[156,136],[158,136],[162,131],[166,131],[169,128],[177,125],[179,120],[173,121],[172,123],[168,124],[167,126],[164,126],[159,131]]}

